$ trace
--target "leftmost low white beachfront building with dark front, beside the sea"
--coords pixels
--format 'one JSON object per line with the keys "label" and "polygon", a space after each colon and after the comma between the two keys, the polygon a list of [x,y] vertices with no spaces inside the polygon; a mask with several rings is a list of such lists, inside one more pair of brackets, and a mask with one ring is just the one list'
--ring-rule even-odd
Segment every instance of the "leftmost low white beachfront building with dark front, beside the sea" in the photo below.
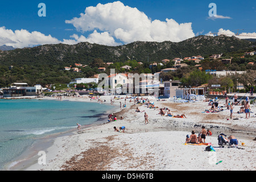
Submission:
{"label": "leftmost low white beachfront building with dark front, beside the sea", "polygon": [[39,96],[43,92],[41,85],[28,86],[27,83],[13,83],[3,89],[3,97]]}

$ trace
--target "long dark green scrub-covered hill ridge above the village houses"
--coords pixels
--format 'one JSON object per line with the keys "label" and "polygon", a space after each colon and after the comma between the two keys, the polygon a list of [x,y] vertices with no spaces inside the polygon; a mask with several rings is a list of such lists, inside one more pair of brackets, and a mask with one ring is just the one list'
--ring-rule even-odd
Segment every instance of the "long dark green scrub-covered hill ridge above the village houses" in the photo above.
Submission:
{"label": "long dark green scrub-covered hill ridge above the village houses", "polygon": [[74,63],[89,64],[96,58],[104,62],[127,61],[133,58],[147,62],[174,59],[175,57],[191,57],[212,55],[240,49],[246,49],[255,42],[241,40],[234,36],[196,36],[183,42],[134,42],[123,46],[102,46],[88,42],[76,45],[49,44],[33,48],[0,51],[0,64],[10,66],[22,65],[59,65]]}

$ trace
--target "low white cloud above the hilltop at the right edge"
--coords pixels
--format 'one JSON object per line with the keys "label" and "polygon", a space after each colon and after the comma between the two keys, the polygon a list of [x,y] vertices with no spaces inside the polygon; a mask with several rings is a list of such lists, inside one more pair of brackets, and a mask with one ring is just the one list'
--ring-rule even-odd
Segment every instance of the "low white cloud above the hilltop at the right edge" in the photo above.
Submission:
{"label": "low white cloud above the hilltop at the right edge", "polygon": [[226,36],[236,36],[237,38],[240,38],[240,39],[255,39],[256,38],[256,33],[253,32],[253,33],[246,33],[246,32],[242,32],[241,34],[235,34],[234,32],[230,31],[230,30],[224,30],[223,28],[220,28],[218,30],[218,32],[216,34],[213,34],[211,31],[208,32],[207,34],[205,35],[208,35],[208,36],[217,36],[217,35],[226,35]]}

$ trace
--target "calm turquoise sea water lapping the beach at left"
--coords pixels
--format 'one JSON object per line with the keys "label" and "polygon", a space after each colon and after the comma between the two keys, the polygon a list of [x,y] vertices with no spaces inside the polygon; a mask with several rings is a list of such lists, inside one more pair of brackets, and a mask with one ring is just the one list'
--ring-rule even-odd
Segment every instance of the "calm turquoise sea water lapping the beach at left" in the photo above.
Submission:
{"label": "calm turquoise sea water lapping the beach at left", "polygon": [[[37,139],[96,122],[106,122],[113,106],[95,102],[0,100],[0,170]],[[105,120],[98,121],[105,116]]]}

